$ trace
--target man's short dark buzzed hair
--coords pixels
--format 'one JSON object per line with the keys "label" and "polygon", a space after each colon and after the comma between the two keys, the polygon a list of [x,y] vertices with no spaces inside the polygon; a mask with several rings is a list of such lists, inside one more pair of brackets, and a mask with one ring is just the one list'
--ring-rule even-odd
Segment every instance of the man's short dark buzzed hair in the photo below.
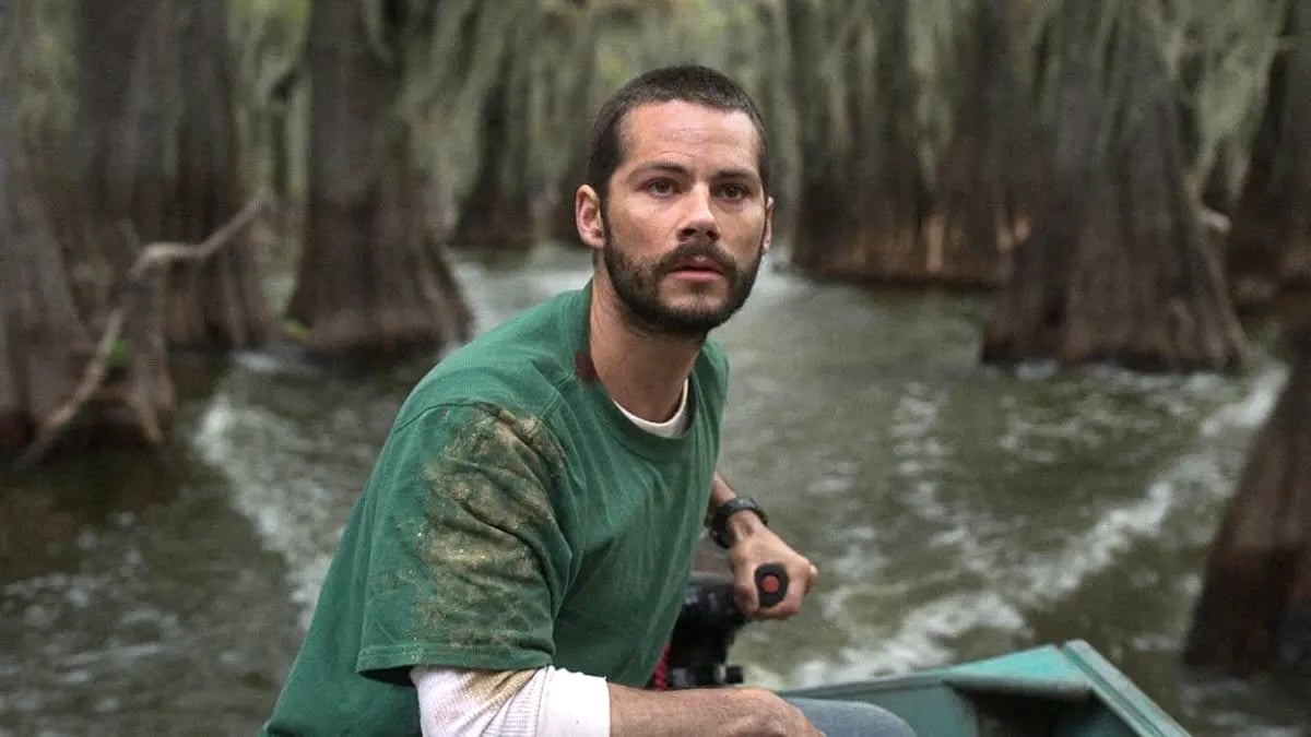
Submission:
{"label": "man's short dark buzzed hair", "polygon": [[640,105],[671,101],[694,102],[726,113],[746,113],[755,126],[760,185],[766,191],[770,190],[770,143],[755,101],[735,81],[709,67],[683,66],[653,70],[635,77],[600,106],[587,136],[585,181],[602,199],[606,198],[611,174],[624,159],[624,118]]}

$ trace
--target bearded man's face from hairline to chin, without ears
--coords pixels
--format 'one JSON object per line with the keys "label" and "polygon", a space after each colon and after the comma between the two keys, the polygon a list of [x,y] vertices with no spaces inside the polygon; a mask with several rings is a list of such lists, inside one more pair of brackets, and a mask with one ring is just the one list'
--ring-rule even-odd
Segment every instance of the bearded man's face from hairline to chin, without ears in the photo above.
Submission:
{"label": "bearded man's face from hairline to chin, without ears", "polygon": [[745,113],[690,102],[633,109],[610,178],[602,254],[638,327],[703,336],[746,302],[770,247],[773,203]]}

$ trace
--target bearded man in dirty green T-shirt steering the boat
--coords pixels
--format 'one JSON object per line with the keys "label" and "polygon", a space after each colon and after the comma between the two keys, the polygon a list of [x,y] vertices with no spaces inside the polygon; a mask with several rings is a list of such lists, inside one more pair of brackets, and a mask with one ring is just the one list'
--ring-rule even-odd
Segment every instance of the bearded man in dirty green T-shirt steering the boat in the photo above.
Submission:
{"label": "bearded man in dirty green T-shirt steering the boat", "polygon": [[[574,202],[594,278],[405,401],[266,733],[909,734],[873,707],[641,688],[704,518],[749,615],[796,614],[818,576],[714,471],[728,365],[705,337],[751,291],[768,185],[760,114],[717,72],[602,108]],[[768,610],[764,563],[792,581]]]}

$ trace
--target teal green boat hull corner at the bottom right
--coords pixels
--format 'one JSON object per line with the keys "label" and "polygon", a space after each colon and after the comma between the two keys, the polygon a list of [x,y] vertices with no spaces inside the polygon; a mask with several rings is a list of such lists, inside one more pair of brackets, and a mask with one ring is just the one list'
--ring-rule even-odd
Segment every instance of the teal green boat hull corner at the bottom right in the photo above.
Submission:
{"label": "teal green boat hull corner at the bottom right", "polygon": [[920,737],[1189,737],[1080,640],[785,695],[873,703]]}

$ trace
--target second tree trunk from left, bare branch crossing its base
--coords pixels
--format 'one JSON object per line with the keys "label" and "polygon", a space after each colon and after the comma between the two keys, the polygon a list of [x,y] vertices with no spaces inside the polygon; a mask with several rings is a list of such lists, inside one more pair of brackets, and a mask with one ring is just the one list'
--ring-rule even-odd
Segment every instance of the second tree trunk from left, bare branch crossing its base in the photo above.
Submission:
{"label": "second tree trunk from left, bare branch crossing its base", "polygon": [[[168,232],[177,199],[173,123],[180,80],[170,0],[93,0],[77,4],[79,115],[81,167],[75,190],[85,193],[84,239],[68,236],[77,270],[93,266],[94,279],[80,285],[84,315],[93,332],[104,329],[114,294],[122,286],[144,239]],[[159,317],[144,308],[156,294],[132,295],[132,316],[105,401],[92,425],[113,429],[130,442],[159,442],[157,430],[174,410],[168,353]],[[135,420],[134,420],[135,418]]]}

